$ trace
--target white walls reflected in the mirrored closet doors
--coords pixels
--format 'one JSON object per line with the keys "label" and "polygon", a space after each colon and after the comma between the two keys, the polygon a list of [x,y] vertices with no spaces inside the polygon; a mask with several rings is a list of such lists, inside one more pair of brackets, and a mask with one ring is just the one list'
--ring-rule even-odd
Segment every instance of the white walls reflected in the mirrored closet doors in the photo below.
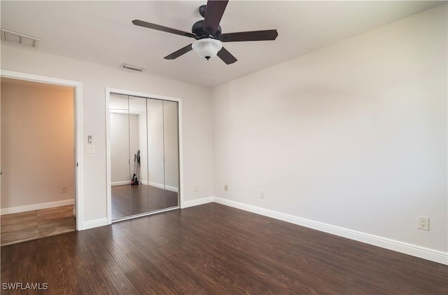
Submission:
{"label": "white walls reflected in the mirrored closet doors", "polygon": [[[135,98],[134,98],[135,99]],[[144,98],[139,98],[145,100]],[[179,188],[179,134],[177,102],[147,100],[139,115],[111,113],[111,181],[122,183],[134,171],[134,153],[140,150],[139,179],[144,184]],[[148,114],[148,116],[146,116]],[[130,130],[131,141],[128,133]],[[138,134],[135,132],[138,131]],[[146,138],[148,137],[148,138]],[[129,143],[131,148],[128,165]],[[146,148],[148,144],[149,149]],[[148,155],[148,156],[147,156]],[[164,161],[165,159],[165,161]],[[150,168],[148,178],[148,163]]]}

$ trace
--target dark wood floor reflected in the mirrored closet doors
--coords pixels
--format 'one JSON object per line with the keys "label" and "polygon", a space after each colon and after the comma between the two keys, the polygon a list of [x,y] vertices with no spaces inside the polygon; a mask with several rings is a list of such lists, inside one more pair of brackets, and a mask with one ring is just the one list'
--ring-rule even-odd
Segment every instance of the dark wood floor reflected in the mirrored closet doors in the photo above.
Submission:
{"label": "dark wood floor reflected in the mirrored closet doors", "polygon": [[112,186],[112,220],[179,205],[178,193],[146,186]]}

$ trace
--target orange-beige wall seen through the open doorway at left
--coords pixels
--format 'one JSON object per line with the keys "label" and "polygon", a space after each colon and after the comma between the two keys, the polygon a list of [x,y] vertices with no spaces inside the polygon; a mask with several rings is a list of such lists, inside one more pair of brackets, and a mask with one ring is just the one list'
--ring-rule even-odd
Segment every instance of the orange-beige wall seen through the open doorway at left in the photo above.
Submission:
{"label": "orange-beige wall seen through the open doorway at left", "polygon": [[1,209],[73,200],[73,88],[5,80]]}

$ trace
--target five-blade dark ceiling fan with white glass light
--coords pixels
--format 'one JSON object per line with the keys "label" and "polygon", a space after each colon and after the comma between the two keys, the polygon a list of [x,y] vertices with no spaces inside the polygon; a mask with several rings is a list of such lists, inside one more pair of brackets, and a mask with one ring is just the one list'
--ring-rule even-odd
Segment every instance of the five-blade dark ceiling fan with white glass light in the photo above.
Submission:
{"label": "five-blade dark ceiling fan with white glass light", "polygon": [[151,22],[144,22],[143,20],[133,20],[132,23],[140,27],[157,29],[158,31],[196,39],[195,42],[175,51],[170,55],[165,56],[165,60],[174,60],[177,57],[188,53],[190,50],[195,50],[197,54],[207,60],[218,55],[218,57],[221,58],[221,60],[223,60],[226,64],[232,64],[236,62],[237,59],[223,47],[222,42],[265,41],[276,39],[278,36],[276,29],[222,33],[219,22],[221,22],[221,18],[223,17],[227,4],[228,0],[209,0],[207,1],[207,5],[200,6],[199,13],[204,20],[195,22],[191,29],[191,33],[183,32],[179,29],[155,25]]}

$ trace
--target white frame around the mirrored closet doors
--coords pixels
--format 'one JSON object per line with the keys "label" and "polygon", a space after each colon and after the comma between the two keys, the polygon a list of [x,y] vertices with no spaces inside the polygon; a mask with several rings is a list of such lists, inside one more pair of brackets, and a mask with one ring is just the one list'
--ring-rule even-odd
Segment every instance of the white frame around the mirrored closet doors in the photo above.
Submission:
{"label": "white frame around the mirrored closet doors", "polygon": [[[183,208],[183,147],[182,147],[182,100],[177,97],[167,97],[162,95],[153,95],[150,93],[136,92],[132,90],[123,90],[106,87],[106,211],[107,224],[112,224],[112,192],[111,192],[111,119],[109,110],[109,101],[111,93],[119,95],[130,95],[137,97],[152,98],[155,100],[167,100],[169,102],[177,102],[178,104],[178,132],[179,132],[179,207],[172,207],[167,210],[159,210],[157,212],[149,212],[145,215],[150,215],[158,212],[169,210],[177,210]],[[140,215],[139,215],[140,216]],[[130,217],[129,219],[134,218]],[[119,219],[123,221],[125,219]]]}

